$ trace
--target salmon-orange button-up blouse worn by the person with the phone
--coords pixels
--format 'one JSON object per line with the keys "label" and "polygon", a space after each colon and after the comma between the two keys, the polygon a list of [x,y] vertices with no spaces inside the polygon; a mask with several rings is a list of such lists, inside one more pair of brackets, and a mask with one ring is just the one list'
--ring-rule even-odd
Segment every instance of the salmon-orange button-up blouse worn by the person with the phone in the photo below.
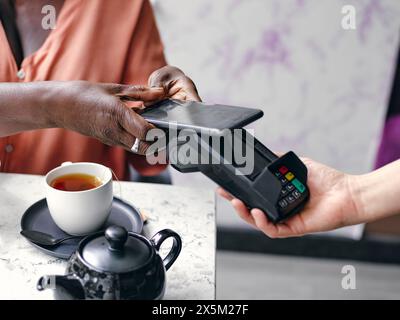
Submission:
{"label": "salmon-orange button-up blouse worn by the person with the phone", "polygon": [[[0,24],[0,82],[88,80],[146,84],[166,64],[163,46],[147,0],[66,0],[42,47],[18,69]],[[68,105],[65,106],[68,108]],[[76,115],[79,117],[79,114]],[[142,174],[145,158],[64,129],[44,129],[0,138],[0,171],[45,174],[62,162],[90,161],[129,176],[132,163]]]}

